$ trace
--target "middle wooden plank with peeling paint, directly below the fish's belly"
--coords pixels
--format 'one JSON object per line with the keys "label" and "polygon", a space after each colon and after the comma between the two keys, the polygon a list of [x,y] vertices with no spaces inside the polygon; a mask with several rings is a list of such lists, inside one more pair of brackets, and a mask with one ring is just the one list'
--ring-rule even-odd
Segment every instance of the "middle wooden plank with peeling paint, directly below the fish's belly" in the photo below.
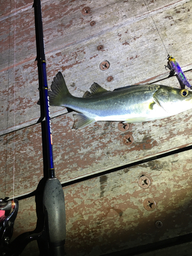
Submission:
{"label": "middle wooden plank with peeling paint, directly below the fish's belly", "polygon": [[[56,176],[65,183],[189,146],[192,144],[190,116],[188,111],[161,120],[131,124],[125,133],[118,130],[117,122],[97,122],[85,129],[71,130],[72,113],[56,117],[52,119]],[[133,136],[132,145],[123,144],[125,134]],[[15,136],[13,133],[4,135],[2,139],[5,146],[0,148],[4,156],[1,175],[6,175],[7,196],[12,195],[13,166],[15,195],[33,191],[42,177],[40,124],[18,130]],[[4,187],[2,180],[2,193]]]}

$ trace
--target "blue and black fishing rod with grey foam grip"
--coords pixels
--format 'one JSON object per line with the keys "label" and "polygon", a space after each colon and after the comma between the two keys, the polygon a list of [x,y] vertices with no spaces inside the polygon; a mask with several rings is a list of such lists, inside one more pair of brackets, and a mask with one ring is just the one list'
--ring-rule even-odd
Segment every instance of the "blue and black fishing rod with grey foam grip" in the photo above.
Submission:
{"label": "blue and black fishing rod with grey foam grip", "polygon": [[[66,239],[66,212],[62,186],[59,180],[55,177],[55,169],[53,162],[50,106],[46,72],[46,56],[44,47],[44,35],[42,29],[40,0],[34,0],[34,11],[37,13],[36,32],[38,31],[38,33],[36,33],[36,43],[38,76],[40,78],[39,82],[42,81],[41,83],[39,83],[39,91],[42,91],[44,96],[44,104],[42,104],[40,99],[40,105],[44,105],[45,111],[45,127],[48,155],[48,179],[46,181],[43,194],[44,214],[46,220],[45,225],[47,227],[50,255],[59,256],[65,254],[64,244]],[[40,54],[38,54],[38,50]]]}

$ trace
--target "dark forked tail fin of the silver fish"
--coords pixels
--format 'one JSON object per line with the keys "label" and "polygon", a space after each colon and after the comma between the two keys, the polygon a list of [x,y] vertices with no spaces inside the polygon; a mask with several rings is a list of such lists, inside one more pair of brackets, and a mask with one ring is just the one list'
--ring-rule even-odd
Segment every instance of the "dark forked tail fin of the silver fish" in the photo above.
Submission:
{"label": "dark forked tail fin of the silver fish", "polygon": [[65,106],[65,101],[67,101],[67,96],[71,95],[67,86],[65,79],[61,72],[58,72],[54,77],[51,90],[49,91],[49,103],[51,106]]}

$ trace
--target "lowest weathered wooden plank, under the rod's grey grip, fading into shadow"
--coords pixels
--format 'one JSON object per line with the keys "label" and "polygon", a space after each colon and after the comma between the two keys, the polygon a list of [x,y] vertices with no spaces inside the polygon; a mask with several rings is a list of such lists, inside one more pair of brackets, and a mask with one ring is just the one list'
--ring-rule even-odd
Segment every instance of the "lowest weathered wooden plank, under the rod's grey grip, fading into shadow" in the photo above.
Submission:
{"label": "lowest weathered wooden plank, under the rod's grey grip, fading into shadow", "polygon": [[[63,187],[67,255],[102,255],[191,233],[191,166],[182,152]],[[142,175],[151,181],[146,189],[138,185]],[[153,211],[144,209],[146,198],[155,200]],[[15,237],[36,221],[34,197],[19,204]]]}

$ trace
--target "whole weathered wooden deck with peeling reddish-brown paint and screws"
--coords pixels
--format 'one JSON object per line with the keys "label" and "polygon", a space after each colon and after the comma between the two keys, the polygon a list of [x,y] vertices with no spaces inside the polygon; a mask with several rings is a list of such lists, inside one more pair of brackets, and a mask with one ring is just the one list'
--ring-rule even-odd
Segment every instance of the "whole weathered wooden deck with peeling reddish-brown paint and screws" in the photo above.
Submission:
{"label": "whole weathered wooden deck with peeling reddish-brown paint and screws", "polygon": [[[0,8],[0,198],[26,197],[19,200],[13,238],[36,226],[30,193],[43,176],[32,5],[18,0],[15,9],[14,1],[5,1]],[[175,76],[167,78],[167,51],[192,81],[192,1],[44,0],[41,6],[49,87],[61,71],[74,96],[93,82],[107,90],[139,83],[179,88]],[[87,6],[91,12],[83,15]],[[110,67],[102,71],[104,60]],[[125,132],[117,122],[72,130],[73,112],[66,108],[52,107],[51,117],[55,172],[66,200],[68,256],[110,255],[191,233],[191,111],[130,124]],[[123,144],[126,134],[133,144]],[[142,175],[151,181],[146,189],[138,185]],[[147,198],[156,202],[153,211],[143,207]],[[172,247],[172,253],[184,248],[183,255],[191,255],[189,242]],[[170,255],[168,250],[153,255]],[[37,251],[32,242],[22,256]]]}

